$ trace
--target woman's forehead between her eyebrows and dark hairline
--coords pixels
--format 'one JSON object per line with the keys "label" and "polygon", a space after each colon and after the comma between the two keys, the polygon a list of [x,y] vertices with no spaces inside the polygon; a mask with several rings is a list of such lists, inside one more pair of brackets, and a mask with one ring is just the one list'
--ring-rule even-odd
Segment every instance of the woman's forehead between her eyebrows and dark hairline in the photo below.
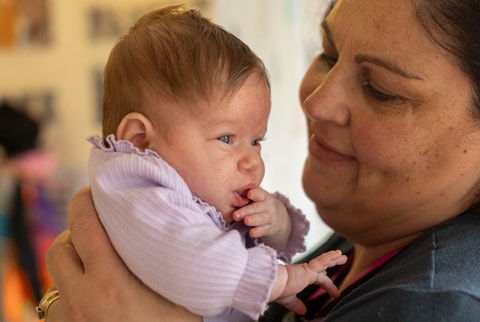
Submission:
{"label": "woman's forehead between her eyebrows and dark hairline", "polygon": [[429,67],[452,63],[418,23],[410,1],[339,1],[322,30],[324,43],[333,41],[330,45],[339,55],[348,52],[353,59],[375,57],[392,62],[417,78],[430,78]]}

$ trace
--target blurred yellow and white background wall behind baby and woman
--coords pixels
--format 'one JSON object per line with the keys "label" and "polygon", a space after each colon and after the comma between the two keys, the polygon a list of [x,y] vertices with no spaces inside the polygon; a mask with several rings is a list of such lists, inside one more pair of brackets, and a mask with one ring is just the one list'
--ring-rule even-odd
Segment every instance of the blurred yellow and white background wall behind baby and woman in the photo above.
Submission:
{"label": "blurred yellow and white background wall behind baby and woman", "polygon": [[[55,160],[48,180],[36,180],[32,190],[32,180],[25,187],[24,180],[12,174],[6,161],[9,155],[0,147],[0,218],[3,217],[0,322],[36,321],[32,304],[36,303],[35,292],[28,289],[28,274],[16,267],[21,257],[15,253],[18,241],[12,242],[8,233],[7,219],[17,188],[27,209],[20,236],[30,242],[36,269],[41,271],[45,248],[64,227],[68,199],[87,184],[90,146],[85,139],[101,133],[102,70],[109,51],[120,33],[142,12],[172,3],[175,1],[0,0],[0,102],[8,102],[38,122],[40,131],[35,148],[48,151]],[[312,55],[319,50],[323,1],[184,0],[180,3],[200,8],[204,15],[249,44],[267,65],[273,108],[263,145],[264,187],[285,193],[304,210],[312,223],[308,247],[313,247],[326,236],[328,229],[301,188],[306,137],[297,92]],[[42,191],[44,200],[38,197]],[[42,202],[48,203],[54,220],[52,229],[39,237],[38,232],[37,235],[32,232],[36,227],[34,219],[39,215],[31,208],[37,209]],[[48,286],[48,278],[38,279],[40,287]]]}

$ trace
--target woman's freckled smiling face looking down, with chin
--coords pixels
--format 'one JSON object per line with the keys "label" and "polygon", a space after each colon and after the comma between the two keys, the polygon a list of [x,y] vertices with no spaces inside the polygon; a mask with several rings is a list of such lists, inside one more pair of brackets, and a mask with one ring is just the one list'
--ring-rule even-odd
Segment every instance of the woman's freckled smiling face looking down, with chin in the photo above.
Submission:
{"label": "woman's freckled smiling face looking down, with chin", "polygon": [[322,38],[300,87],[303,185],[322,219],[369,244],[467,209],[480,179],[473,92],[410,1],[339,1]]}

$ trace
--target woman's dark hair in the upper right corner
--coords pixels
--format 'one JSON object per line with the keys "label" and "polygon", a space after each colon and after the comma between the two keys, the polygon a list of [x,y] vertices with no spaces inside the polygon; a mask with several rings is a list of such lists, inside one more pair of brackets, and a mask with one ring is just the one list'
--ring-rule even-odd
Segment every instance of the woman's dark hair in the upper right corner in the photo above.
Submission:
{"label": "woman's dark hair in the upper right corner", "polygon": [[473,116],[480,119],[480,1],[412,0],[418,22],[470,78]]}

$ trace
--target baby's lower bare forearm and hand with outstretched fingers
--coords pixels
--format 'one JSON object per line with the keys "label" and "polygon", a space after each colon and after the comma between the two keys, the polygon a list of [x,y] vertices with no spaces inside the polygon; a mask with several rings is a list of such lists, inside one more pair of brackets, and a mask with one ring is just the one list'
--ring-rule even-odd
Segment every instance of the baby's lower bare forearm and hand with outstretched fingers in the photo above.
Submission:
{"label": "baby's lower bare forearm and hand with outstretched fingers", "polygon": [[336,250],[323,253],[305,264],[279,265],[270,300],[297,314],[305,314],[305,304],[296,295],[308,285],[316,284],[325,289],[331,297],[338,297],[338,289],[327,276],[326,269],[343,265],[346,261],[347,257]]}

